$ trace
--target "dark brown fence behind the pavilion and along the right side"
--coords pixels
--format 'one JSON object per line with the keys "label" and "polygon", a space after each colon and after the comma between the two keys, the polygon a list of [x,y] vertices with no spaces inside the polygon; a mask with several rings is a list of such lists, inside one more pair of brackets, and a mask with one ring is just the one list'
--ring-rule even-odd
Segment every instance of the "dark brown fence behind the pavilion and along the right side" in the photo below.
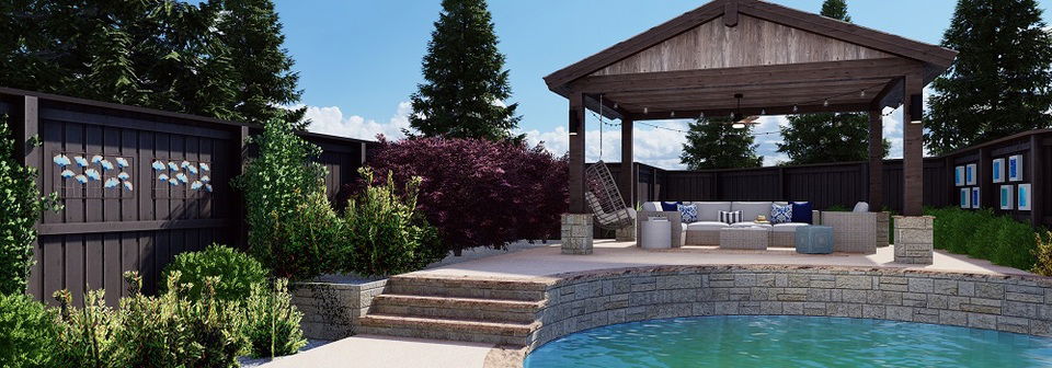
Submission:
{"label": "dark brown fence behind the pavilion and along the right side", "polygon": [[[924,160],[924,205],[933,207],[961,205],[962,189],[980,191],[979,206],[1010,215],[1034,226],[1052,227],[1052,129],[1033,130],[1006,137],[942,157]],[[995,183],[994,160],[1007,165],[1010,158],[1020,160],[1020,177]],[[954,171],[974,164],[972,184],[956,183]],[[619,177],[620,163],[609,163]],[[776,166],[735,170],[671,171],[637,163],[637,202],[645,200],[801,200],[817,208],[851,207],[869,202],[869,165],[846,162],[802,166]],[[902,160],[884,161],[882,175],[883,204],[902,210]],[[1007,176],[1007,169],[1005,172]],[[1018,203],[1002,209],[999,191],[1011,186],[1018,196],[1020,185],[1031,188],[1030,208]],[[1018,197],[1015,198],[1018,202]],[[971,203],[969,203],[971,205]]]}

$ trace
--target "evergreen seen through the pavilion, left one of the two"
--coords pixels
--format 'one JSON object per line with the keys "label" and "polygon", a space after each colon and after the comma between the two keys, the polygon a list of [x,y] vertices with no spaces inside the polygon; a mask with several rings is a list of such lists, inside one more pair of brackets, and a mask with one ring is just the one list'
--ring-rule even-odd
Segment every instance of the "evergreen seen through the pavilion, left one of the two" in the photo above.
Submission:
{"label": "evergreen seen through the pavilion, left one of the two", "polygon": [[679,162],[689,170],[759,168],[752,126],[736,129],[728,118],[699,118],[690,123]]}

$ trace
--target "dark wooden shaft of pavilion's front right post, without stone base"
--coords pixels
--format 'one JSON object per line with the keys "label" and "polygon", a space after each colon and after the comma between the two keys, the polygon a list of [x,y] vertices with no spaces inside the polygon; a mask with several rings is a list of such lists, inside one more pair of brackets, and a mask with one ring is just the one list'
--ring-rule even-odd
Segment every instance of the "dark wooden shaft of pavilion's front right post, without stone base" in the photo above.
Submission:
{"label": "dark wooden shaft of pavilion's front right post, without stone base", "polygon": [[[905,77],[903,90],[903,215],[921,216],[924,211],[924,124],[912,123],[912,95],[924,93],[923,70],[915,68]],[[921,106],[923,108],[923,106]]]}

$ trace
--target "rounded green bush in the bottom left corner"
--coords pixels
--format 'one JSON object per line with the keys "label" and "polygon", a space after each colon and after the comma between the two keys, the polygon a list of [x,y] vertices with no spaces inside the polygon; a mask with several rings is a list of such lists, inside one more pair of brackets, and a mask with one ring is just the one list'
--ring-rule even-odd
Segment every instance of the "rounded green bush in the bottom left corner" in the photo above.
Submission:
{"label": "rounded green bush in the bottom left corner", "polygon": [[58,317],[24,295],[0,295],[0,367],[57,365]]}

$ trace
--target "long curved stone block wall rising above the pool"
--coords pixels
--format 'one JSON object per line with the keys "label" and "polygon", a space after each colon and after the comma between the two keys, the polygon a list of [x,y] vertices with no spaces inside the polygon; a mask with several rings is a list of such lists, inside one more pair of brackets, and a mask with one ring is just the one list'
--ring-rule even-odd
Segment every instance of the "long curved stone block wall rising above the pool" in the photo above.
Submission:
{"label": "long curved stone block wall rising above the pool", "polygon": [[660,266],[558,276],[531,350],[582,330],[702,315],[883,319],[1052,336],[1052,278],[815,266]]}

